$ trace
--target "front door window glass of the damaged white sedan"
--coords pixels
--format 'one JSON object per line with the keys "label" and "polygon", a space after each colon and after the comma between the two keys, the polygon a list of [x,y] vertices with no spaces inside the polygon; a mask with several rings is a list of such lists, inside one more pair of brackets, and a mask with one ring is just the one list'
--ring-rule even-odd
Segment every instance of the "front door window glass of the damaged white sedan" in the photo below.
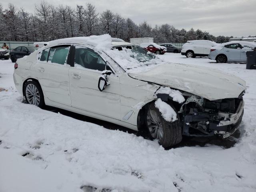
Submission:
{"label": "front door window glass of the damaged white sedan", "polygon": [[74,67],[104,71],[106,62],[94,50],[76,46]]}

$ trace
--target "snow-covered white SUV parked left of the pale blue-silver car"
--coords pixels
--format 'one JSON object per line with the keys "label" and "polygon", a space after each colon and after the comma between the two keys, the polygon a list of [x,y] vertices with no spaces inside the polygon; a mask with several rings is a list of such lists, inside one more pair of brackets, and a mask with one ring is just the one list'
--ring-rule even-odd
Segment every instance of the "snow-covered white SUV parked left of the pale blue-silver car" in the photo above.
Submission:
{"label": "snow-covered white SUV parked left of the pale blue-silver car", "polygon": [[191,40],[182,46],[181,54],[192,58],[208,57],[211,47],[217,45],[218,43],[209,40]]}

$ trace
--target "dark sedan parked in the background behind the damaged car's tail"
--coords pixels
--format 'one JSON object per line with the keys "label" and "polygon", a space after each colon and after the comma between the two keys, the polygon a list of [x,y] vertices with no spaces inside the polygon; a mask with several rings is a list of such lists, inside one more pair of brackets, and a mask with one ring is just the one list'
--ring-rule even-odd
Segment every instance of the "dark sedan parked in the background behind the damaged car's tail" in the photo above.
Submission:
{"label": "dark sedan parked in the background behind the damaged car's tail", "polygon": [[14,50],[10,52],[10,58],[12,62],[16,62],[17,59],[22,58],[26,55],[30,55],[32,52],[37,50],[38,48],[33,46],[20,46],[16,47]]}

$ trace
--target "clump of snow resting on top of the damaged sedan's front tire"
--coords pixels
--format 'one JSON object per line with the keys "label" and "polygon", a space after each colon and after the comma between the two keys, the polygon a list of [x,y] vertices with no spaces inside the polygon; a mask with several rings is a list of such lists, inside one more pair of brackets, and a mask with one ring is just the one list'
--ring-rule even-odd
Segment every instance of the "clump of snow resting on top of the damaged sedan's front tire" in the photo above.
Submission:
{"label": "clump of snow resting on top of the damaged sedan's front tire", "polygon": [[156,100],[155,106],[161,112],[164,120],[168,122],[171,122],[171,121],[174,122],[177,120],[177,114],[174,111],[174,109],[170,105],[168,105],[166,102],[163,102],[160,98]]}

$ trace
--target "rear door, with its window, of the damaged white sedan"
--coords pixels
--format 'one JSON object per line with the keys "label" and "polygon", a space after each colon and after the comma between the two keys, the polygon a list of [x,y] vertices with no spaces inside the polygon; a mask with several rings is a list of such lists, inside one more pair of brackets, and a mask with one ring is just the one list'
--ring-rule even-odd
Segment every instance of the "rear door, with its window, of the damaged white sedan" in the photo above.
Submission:
{"label": "rear door, with its window, of the damaged white sedan", "polygon": [[68,70],[70,45],[59,45],[42,50],[31,70],[49,100],[71,106]]}

